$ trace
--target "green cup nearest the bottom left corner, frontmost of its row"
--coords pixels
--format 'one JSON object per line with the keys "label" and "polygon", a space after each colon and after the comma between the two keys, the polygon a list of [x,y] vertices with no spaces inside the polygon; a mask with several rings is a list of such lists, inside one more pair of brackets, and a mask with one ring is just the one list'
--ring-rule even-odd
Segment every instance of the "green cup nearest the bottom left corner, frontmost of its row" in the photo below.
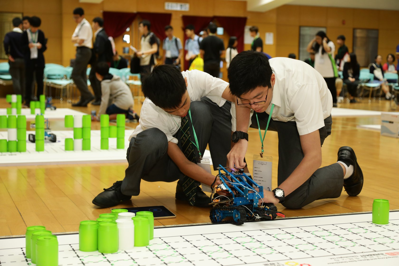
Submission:
{"label": "green cup nearest the bottom left corner, frontmost of its row", "polygon": [[58,240],[55,235],[39,236],[36,241],[36,266],[58,266]]}

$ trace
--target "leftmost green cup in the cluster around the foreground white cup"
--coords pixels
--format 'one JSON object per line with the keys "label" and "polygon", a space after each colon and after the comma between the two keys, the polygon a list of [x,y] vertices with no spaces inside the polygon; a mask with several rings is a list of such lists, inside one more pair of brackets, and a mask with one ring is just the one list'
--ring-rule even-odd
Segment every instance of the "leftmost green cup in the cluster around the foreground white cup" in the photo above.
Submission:
{"label": "leftmost green cup in the cluster around the foreground white cup", "polygon": [[79,250],[91,252],[98,250],[99,222],[81,221],[79,225]]}

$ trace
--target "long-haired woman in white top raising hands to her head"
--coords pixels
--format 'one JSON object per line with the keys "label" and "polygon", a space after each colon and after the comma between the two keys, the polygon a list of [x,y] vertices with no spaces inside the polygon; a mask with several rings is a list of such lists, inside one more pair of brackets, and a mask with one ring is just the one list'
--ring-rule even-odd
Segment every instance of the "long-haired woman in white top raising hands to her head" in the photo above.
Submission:
{"label": "long-haired woman in white top raising hands to her head", "polygon": [[335,60],[332,57],[335,52],[334,43],[328,39],[325,32],[320,31],[316,33],[316,37],[309,42],[307,51],[309,53],[314,51],[314,68],[326,81],[327,87],[332,95],[332,105],[337,107],[335,79],[338,77],[338,71]]}

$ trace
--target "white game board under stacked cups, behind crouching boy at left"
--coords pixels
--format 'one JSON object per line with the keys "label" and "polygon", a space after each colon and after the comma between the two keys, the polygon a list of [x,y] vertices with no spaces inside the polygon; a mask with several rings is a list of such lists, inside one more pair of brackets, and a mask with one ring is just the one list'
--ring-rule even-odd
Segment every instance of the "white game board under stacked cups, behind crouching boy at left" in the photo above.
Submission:
{"label": "white game board under stacked cups, behind crouching boy at left", "polygon": [[[51,131],[57,136],[57,142],[45,141],[44,152],[36,152],[35,144],[28,140],[28,135],[35,132],[27,131],[26,152],[0,152],[0,166],[127,162],[126,150],[132,132],[125,130],[124,149],[117,149],[117,139],[109,138],[109,150],[101,150],[100,130],[91,130],[91,150],[65,151],[65,138],[73,138],[73,131]],[[0,132],[0,139],[7,139],[6,131]],[[208,158],[212,164],[209,150],[205,150],[204,158]]]}

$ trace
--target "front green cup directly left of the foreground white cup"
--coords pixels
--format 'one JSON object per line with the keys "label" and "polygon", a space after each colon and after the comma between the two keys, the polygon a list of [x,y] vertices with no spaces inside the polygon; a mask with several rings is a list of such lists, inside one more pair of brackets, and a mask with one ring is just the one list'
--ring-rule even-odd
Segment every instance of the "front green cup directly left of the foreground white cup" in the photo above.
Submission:
{"label": "front green cup directly left of the foreground white cup", "polygon": [[[109,218],[104,218],[109,219]],[[99,252],[115,253],[119,248],[118,226],[115,222],[99,223]]]}

